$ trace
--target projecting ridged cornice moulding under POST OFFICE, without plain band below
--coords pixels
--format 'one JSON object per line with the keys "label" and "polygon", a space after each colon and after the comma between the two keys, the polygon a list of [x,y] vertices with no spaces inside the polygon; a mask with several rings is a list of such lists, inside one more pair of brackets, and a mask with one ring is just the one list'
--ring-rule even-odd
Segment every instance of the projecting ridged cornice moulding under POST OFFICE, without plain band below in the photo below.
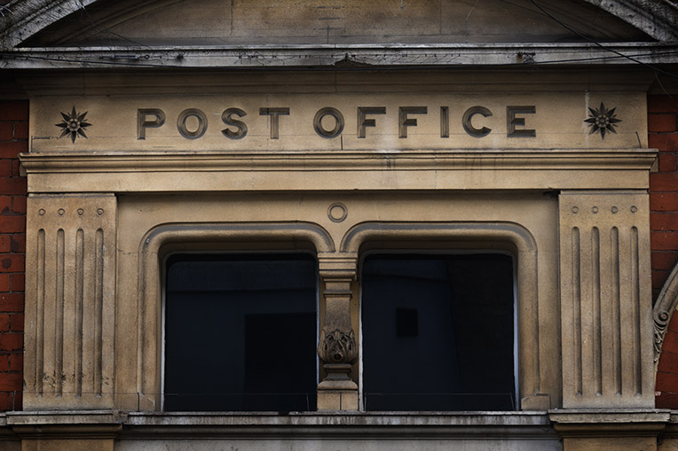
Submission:
{"label": "projecting ridged cornice moulding under POST OFFICE, without plain band below", "polygon": [[408,171],[423,169],[636,169],[648,171],[652,149],[525,149],[400,152],[49,152],[22,153],[28,175],[186,171]]}

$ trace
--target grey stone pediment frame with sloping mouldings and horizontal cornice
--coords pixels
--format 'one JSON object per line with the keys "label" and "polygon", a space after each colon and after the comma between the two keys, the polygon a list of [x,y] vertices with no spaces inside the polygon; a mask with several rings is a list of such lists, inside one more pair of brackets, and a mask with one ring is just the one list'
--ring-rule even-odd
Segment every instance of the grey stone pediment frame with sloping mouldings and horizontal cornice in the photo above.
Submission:
{"label": "grey stone pediment frame with sloping mouldings and horizontal cornice", "polygon": [[[515,64],[524,62],[551,63],[556,60],[581,59],[582,52],[595,62],[623,63],[624,58],[614,58],[609,51],[591,43],[526,43],[526,44],[414,44],[398,45],[282,45],[282,46],[203,46],[185,48],[145,46],[146,53],[140,61],[119,61],[121,52],[135,52],[132,47],[108,48],[21,48],[31,37],[55,24],[69,14],[95,4],[99,0],[13,0],[0,6],[0,49],[7,51],[0,59],[0,68],[43,68],[102,66],[101,61],[115,59],[116,65],[130,66],[314,66],[336,65],[337,61],[350,60],[367,65],[414,65],[431,61],[438,65]],[[625,55],[652,64],[675,63],[678,44],[678,5],[670,0],[583,0],[610,13],[642,31],[658,43],[609,43],[608,47],[623,51]],[[668,46],[668,47],[666,47]],[[375,54],[375,51],[379,55]],[[355,55],[353,55],[355,53]],[[31,56],[32,55],[32,56]],[[376,55],[376,56],[374,56]],[[518,61],[516,61],[518,55]],[[123,55],[124,56],[124,55]],[[28,57],[28,58],[23,58]],[[285,63],[287,58],[287,63]],[[136,55],[135,55],[136,58]],[[374,59],[376,58],[376,59]],[[544,60],[547,58],[548,60]],[[134,59],[134,58],[132,58]],[[138,59],[138,58],[137,58]],[[270,61],[269,61],[270,59]],[[70,61],[70,62],[69,62]],[[73,61],[76,61],[75,64]],[[245,61],[245,63],[243,63]],[[282,61],[282,63],[280,62]],[[112,64],[112,63],[110,63]]]}

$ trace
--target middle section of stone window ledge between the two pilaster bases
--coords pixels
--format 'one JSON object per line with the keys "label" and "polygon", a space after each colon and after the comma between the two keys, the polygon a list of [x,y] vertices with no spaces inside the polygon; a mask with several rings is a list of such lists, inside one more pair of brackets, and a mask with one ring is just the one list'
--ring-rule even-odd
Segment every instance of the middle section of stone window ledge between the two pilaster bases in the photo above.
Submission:
{"label": "middle section of stone window ledge between the two pilaster bases", "polygon": [[556,439],[546,412],[134,412],[120,438],[215,434],[242,439]]}

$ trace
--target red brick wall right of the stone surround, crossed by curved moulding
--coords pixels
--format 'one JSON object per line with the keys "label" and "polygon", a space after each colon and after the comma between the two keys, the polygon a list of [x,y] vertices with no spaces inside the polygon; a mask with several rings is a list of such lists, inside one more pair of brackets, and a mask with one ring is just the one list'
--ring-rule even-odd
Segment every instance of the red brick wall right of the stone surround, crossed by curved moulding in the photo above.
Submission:
{"label": "red brick wall right of the stone surround, crossed by curved moulding", "polygon": [[[650,147],[659,150],[659,171],[650,174],[652,292],[657,299],[678,260],[678,95],[648,97]],[[668,325],[657,373],[658,408],[678,408],[678,315]]]}

